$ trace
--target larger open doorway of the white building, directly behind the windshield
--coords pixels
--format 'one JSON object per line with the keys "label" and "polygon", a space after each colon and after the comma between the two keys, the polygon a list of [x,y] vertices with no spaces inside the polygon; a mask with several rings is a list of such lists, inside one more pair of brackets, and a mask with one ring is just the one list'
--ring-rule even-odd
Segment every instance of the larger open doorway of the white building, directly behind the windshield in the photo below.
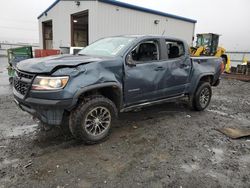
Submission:
{"label": "larger open doorway of the white building, directly behind the windshield", "polygon": [[71,46],[85,47],[88,45],[88,11],[71,15]]}

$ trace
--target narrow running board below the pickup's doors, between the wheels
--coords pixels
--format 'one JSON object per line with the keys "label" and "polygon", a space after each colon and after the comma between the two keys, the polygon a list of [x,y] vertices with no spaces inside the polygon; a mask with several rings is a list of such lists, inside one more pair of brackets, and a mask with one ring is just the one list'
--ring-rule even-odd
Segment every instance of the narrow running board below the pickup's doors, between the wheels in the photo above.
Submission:
{"label": "narrow running board below the pickup's doors, between the wheels", "polygon": [[182,94],[182,95],[179,95],[179,96],[170,97],[170,98],[166,98],[166,99],[161,99],[161,100],[157,100],[157,101],[152,101],[152,102],[146,102],[146,103],[142,103],[142,104],[132,105],[132,106],[125,107],[125,108],[121,109],[120,112],[128,112],[128,111],[131,111],[131,110],[134,110],[134,109],[138,109],[138,108],[143,108],[143,107],[146,107],[146,106],[153,106],[153,105],[156,105],[156,104],[170,102],[170,101],[174,101],[176,99],[182,98],[182,97],[185,97],[185,95]]}

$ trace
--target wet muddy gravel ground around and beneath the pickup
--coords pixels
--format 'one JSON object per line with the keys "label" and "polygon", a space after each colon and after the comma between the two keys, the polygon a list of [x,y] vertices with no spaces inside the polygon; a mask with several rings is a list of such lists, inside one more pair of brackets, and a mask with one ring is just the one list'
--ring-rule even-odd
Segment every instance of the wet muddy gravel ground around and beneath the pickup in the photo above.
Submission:
{"label": "wet muddy gravel ground around and beneath the pickup", "polygon": [[16,107],[0,69],[0,187],[250,187],[250,83],[222,80],[204,112],[183,102],[120,117],[110,139],[86,146],[43,132]]}

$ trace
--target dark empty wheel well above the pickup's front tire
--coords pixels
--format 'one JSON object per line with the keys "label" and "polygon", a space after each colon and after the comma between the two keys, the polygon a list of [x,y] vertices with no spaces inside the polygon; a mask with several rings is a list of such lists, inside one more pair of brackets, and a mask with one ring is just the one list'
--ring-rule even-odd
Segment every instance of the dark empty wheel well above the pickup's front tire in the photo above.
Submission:
{"label": "dark empty wheel well above the pickup's front tire", "polygon": [[97,88],[97,89],[93,89],[90,91],[86,91],[80,95],[78,100],[81,101],[84,97],[88,97],[91,95],[102,95],[108,98],[115,104],[115,106],[118,109],[120,109],[122,105],[122,100],[121,100],[122,93],[121,93],[121,90],[116,86],[108,86],[108,87]]}

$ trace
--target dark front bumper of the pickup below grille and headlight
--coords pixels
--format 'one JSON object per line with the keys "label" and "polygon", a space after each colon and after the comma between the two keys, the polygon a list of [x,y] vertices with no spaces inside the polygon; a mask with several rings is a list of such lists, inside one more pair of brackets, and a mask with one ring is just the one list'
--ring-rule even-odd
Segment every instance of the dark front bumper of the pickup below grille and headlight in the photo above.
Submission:
{"label": "dark front bumper of the pickup below grille and headlight", "polygon": [[20,95],[13,88],[14,101],[23,110],[35,116],[43,123],[49,125],[60,125],[64,112],[72,109],[73,99],[47,100]]}

